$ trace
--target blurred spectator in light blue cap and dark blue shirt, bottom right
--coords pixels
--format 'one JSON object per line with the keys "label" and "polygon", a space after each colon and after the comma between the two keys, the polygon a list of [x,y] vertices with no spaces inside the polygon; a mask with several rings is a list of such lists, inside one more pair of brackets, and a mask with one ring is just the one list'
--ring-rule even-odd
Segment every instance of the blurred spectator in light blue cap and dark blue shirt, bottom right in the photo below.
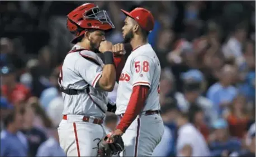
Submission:
{"label": "blurred spectator in light blue cap and dark blue shirt, bottom right", "polygon": [[224,119],[217,119],[212,124],[214,132],[211,135],[209,148],[211,156],[229,155],[241,149],[241,141],[229,136],[228,124]]}

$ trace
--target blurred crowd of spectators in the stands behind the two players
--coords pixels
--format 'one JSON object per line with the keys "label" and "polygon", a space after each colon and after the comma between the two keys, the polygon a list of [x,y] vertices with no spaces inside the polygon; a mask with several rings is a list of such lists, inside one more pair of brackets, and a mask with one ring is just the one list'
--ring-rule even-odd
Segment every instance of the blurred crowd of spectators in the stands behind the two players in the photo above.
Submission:
{"label": "blurred crowd of spectators in the stands behind the two players", "polygon": [[[82,3],[0,3],[1,156],[65,156],[58,76],[72,47],[66,15]],[[165,133],[153,156],[255,156],[255,1],[95,3],[116,26],[107,34],[112,43],[122,42],[120,8],[154,15],[149,43],[162,66]],[[107,114],[108,129],[117,122]]]}

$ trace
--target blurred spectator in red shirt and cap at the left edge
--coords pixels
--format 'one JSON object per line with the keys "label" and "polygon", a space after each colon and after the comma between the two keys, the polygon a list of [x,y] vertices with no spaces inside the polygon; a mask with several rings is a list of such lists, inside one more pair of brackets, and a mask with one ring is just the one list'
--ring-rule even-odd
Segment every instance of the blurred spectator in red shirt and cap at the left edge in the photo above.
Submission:
{"label": "blurred spectator in red shirt and cap at the left edge", "polygon": [[13,105],[20,105],[31,96],[25,85],[16,81],[16,68],[12,65],[1,67],[1,95]]}

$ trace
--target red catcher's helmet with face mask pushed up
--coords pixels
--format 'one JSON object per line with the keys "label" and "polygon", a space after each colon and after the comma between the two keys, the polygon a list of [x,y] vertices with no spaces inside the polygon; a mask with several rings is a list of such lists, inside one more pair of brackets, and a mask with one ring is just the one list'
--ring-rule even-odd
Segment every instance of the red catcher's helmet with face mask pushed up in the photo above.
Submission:
{"label": "red catcher's helmet with face mask pushed up", "polygon": [[87,29],[108,31],[115,26],[105,10],[99,10],[93,3],[85,3],[68,14],[67,28],[75,35],[72,41],[75,43]]}

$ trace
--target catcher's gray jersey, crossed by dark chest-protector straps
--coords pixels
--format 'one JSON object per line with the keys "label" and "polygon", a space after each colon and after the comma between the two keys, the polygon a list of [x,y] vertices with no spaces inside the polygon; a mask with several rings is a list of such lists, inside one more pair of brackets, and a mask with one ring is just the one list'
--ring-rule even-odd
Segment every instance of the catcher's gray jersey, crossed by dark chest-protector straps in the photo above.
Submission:
{"label": "catcher's gray jersey, crossed by dark chest-protector straps", "polygon": [[[72,50],[82,47],[75,45]],[[89,60],[88,60],[89,59]],[[103,62],[96,53],[89,50],[70,51],[65,57],[59,77],[59,85],[63,89],[86,90],[78,95],[62,93],[64,101],[64,115],[86,115],[103,117],[105,114],[96,103],[107,110],[107,92],[96,89],[96,84],[102,75]]]}

